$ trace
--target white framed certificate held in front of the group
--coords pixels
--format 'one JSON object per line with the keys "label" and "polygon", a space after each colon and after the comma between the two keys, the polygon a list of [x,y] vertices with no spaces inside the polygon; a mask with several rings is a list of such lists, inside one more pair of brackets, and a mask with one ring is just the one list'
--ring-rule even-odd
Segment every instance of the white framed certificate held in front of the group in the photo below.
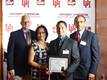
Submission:
{"label": "white framed certificate held in front of the group", "polygon": [[49,58],[49,70],[50,72],[61,72],[61,69],[64,70],[68,67],[67,58]]}

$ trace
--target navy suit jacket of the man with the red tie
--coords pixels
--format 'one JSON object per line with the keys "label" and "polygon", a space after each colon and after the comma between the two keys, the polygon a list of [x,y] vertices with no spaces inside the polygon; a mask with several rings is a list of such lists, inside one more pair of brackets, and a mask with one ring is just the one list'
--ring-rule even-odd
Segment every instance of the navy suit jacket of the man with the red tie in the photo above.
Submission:
{"label": "navy suit jacket of the man with the red tie", "polygon": [[[76,32],[70,35],[75,39]],[[85,30],[78,44],[80,53],[80,64],[74,72],[74,78],[86,80],[89,73],[96,74],[99,63],[99,44],[96,35]]]}

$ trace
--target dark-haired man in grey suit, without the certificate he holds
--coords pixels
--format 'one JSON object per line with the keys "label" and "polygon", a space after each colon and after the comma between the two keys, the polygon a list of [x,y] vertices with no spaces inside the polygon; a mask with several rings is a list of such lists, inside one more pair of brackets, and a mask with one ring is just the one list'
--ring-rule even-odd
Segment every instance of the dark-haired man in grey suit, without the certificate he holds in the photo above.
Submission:
{"label": "dark-haired man in grey suit, without the certificate he holds", "polygon": [[[48,55],[55,58],[67,58],[68,68],[65,76],[67,80],[72,80],[72,74],[79,64],[79,51],[77,42],[67,37],[67,24],[59,21],[56,25],[58,37],[49,44]],[[52,73],[51,80],[66,80],[60,73]]]}

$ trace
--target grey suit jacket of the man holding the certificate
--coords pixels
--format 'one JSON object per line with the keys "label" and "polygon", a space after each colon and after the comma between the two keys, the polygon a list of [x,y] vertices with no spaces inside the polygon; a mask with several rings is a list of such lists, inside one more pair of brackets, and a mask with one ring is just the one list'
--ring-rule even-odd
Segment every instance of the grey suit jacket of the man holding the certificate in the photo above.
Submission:
{"label": "grey suit jacket of the man holding the certificate", "polygon": [[[63,50],[69,50],[69,54],[63,54]],[[77,68],[80,60],[77,42],[66,36],[61,46],[59,46],[57,38],[50,42],[48,54],[50,57],[68,58],[67,80],[72,80],[72,73]],[[62,79],[55,78],[55,80]]]}

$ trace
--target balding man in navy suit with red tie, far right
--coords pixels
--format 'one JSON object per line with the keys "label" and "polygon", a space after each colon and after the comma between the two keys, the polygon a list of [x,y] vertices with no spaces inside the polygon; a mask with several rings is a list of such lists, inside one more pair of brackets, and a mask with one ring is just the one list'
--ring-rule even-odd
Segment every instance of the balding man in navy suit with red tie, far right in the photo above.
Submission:
{"label": "balding man in navy suit with red tie, far right", "polygon": [[77,31],[70,35],[77,40],[80,53],[80,64],[74,72],[74,80],[95,80],[100,59],[98,39],[95,33],[86,30],[85,22],[83,15],[77,15],[74,19]]}

